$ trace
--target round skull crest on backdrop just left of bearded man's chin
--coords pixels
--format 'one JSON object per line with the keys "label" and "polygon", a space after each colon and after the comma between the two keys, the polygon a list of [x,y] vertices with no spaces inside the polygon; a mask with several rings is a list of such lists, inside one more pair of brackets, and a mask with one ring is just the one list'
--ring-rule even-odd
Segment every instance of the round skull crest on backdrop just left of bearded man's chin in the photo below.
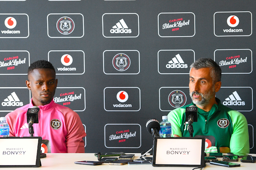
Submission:
{"label": "round skull crest on backdrop just left of bearded man's chin", "polygon": [[178,108],[178,107],[182,107],[186,104],[186,101],[187,101],[187,97],[186,95],[184,94],[183,91],[180,91],[180,90],[174,90],[172,91],[170,94],[169,94],[169,97],[168,97],[168,101],[169,101],[169,104],[172,106],[172,107],[175,107],[175,108]]}

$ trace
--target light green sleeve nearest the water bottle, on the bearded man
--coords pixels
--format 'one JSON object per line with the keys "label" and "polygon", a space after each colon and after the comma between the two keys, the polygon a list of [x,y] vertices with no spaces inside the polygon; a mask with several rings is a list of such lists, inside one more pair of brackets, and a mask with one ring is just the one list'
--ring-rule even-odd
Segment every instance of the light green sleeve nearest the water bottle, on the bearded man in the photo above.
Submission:
{"label": "light green sleeve nearest the water bottle, on the bearded man", "polygon": [[182,127],[182,115],[185,113],[184,108],[176,108],[168,114],[168,121],[172,125],[172,137],[174,134],[182,137],[181,127]]}

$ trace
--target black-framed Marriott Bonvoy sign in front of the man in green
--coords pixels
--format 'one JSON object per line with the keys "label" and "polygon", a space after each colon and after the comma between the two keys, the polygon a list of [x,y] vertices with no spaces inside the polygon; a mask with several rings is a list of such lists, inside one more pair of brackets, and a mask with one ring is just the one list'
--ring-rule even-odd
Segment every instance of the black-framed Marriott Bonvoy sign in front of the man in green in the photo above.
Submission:
{"label": "black-framed Marriott Bonvoy sign in front of the man in green", "polygon": [[155,138],[153,166],[203,167],[204,138]]}

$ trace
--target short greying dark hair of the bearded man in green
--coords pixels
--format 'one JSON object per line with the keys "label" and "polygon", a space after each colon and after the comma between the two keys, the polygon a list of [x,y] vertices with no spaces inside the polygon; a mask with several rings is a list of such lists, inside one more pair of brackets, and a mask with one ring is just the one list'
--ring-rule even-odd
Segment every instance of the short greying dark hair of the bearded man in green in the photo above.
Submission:
{"label": "short greying dark hair of the bearded man in green", "polygon": [[221,81],[221,67],[211,58],[200,58],[196,60],[190,65],[190,70],[191,68],[195,68],[196,70],[200,68],[210,68],[213,83]]}

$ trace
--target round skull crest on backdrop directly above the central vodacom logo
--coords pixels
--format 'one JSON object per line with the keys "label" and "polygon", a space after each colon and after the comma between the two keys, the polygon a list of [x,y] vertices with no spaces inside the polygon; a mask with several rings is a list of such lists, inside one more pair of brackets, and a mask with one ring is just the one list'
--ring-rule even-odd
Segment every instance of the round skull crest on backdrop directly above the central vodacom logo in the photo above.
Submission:
{"label": "round skull crest on backdrop directly above the central vodacom logo", "polygon": [[118,71],[125,71],[130,67],[130,58],[124,53],[116,54],[112,61],[113,67]]}

